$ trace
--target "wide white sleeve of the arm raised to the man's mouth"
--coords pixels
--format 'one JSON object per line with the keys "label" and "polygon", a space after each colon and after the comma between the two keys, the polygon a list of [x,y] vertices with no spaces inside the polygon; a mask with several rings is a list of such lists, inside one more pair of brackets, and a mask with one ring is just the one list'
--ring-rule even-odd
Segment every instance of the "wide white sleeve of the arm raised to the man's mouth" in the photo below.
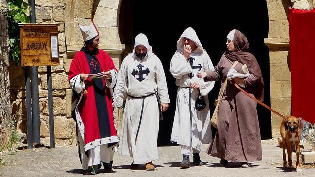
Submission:
{"label": "wide white sleeve of the arm raised to the man's mouth", "polygon": [[171,59],[170,72],[174,78],[180,79],[183,75],[189,74],[192,72],[192,68],[185,59],[185,57],[179,52],[175,52]]}

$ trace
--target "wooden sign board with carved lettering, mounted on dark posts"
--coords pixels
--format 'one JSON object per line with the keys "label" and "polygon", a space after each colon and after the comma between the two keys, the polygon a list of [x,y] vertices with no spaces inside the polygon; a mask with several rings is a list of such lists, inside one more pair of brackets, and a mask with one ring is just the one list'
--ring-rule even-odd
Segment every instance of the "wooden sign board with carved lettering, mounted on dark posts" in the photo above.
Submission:
{"label": "wooden sign board with carved lettering, mounted on dark posts", "polygon": [[[55,137],[54,137],[54,121],[53,121],[51,66],[59,65],[58,24],[19,24],[19,26],[20,26],[20,43],[21,43],[21,66],[26,66],[26,70],[28,70],[27,69],[28,66],[47,66],[50,147],[54,148]],[[37,78],[37,74],[36,74],[36,78]],[[36,78],[33,78],[32,76],[32,90],[33,90],[33,93],[36,92],[37,90],[37,97],[38,97],[38,85],[37,86],[33,85],[33,81],[37,83]],[[26,91],[26,92],[27,92],[26,94],[29,94],[29,91]],[[27,96],[29,95],[26,95],[26,97]],[[32,95],[32,120],[28,118],[29,112],[27,112],[27,115],[28,115],[27,125],[31,124],[29,122],[32,122],[33,124],[32,132],[33,132],[34,138],[29,139],[29,136],[28,136],[28,141],[31,141],[31,143],[33,143],[33,140],[34,140],[35,143],[39,143],[40,141],[39,106],[38,106],[39,104],[38,104],[38,101],[36,104],[33,96],[34,95]],[[27,111],[29,111],[30,105],[28,101],[27,101],[27,104],[28,104]],[[38,116],[36,116],[37,114]],[[28,128],[28,132],[30,132],[29,131],[30,126],[28,126],[27,128]],[[30,145],[28,145],[28,147],[32,148],[32,146]]]}

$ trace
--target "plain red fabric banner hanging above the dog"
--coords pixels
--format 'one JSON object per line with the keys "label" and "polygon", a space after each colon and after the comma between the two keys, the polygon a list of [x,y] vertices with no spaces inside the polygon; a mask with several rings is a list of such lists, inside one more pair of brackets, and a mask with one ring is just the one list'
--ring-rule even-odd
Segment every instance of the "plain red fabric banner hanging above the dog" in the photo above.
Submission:
{"label": "plain red fabric banner hanging above the dog", "polygon": [[315,123],[315,9],[289,8],[292,115]]}

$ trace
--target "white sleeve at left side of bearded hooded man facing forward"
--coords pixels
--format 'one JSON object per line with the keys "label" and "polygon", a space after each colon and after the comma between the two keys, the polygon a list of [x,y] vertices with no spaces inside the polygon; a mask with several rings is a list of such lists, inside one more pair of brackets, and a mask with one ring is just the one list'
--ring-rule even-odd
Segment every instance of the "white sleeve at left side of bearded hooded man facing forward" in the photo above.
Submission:
{"label": "white sleeve at left side of bearded hooded man facing forward", "polygon": [[[125,60],[124,60],[125,61]],[[125,62],[122,62],[118,75],[117,84],[115,87],[115,104],[116,108],[122,107],[124,100],[127,98],[127,76],[126,76],[126,66]]]}

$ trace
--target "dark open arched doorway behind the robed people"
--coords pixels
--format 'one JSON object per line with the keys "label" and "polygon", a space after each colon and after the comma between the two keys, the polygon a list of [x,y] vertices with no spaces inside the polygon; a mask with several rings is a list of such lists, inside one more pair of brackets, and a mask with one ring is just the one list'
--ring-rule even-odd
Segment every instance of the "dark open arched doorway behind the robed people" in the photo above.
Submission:
{"label": "dark open arched doorway behind the robed people", "polygon": [[[253,1],[200,1],[190,0],[122,0],[119,14],[119,36],[125,44],[123,55],[132,51],[135,36],[148,36],[153,52],[163,63],[171,104],[160,122],[158,145],[170,145],[170,135],[175,111],[176,85],[169,72],[169,63],[176,51],[176,42],[187,27],[197,32],[203,48],[216,65],[226,50],[227,33],[236,28],[249,40],[252,53],[262,69],[265,82],[265,103],[270,105],[270,73],[268,48],[264,38],[268,35],[268,12],[266,0]],[[124,56],[122,56],[123,58]],[[219,84],[209,94],[210,111],[218,95]],[[271,113],[258,106],[262,139],[271,138]],[[213,131],[215,131],[213,129]]]}

